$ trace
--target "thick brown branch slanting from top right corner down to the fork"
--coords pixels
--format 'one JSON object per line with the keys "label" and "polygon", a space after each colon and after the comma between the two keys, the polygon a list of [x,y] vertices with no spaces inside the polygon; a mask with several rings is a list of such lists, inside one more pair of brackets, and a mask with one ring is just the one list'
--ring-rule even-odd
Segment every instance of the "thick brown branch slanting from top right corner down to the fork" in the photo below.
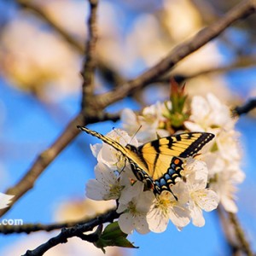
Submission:
{"label": "thick brown branch slanting from top right corner down to the fork", "polygon": [[189,39],[189,41],[177,45],[163,60],[139,75],[136,79],[122,84],[122,86],[119,86],[116,90],[98,96],[98,103],[101,103],[102,108],[105,108],[113,102],[117,102],[125,96],[131,95],[134,90],[141,89],[146,84],[164,75],[166,72],[170,71],[178,61],[183,60],[213,38],[218,37],[221,32],[224,32],[224,30],[236,20],[244,19],[252,15],[255,10],[255,0],[247,0],[237,4],[224,15],[224,17],[216,20],[212,25],[203,28],[200,32],[196,33],[193,38]]}

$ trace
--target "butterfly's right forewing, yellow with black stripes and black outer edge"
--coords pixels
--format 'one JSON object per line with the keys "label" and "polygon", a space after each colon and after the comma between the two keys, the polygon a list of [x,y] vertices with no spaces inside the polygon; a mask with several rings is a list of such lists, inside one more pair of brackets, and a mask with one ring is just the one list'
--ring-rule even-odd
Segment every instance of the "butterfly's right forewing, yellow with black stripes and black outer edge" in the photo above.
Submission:
{"label": "butterfly's right forewing, yellow with black stripes and black outer edge", "polygon": [[172,166],[173,157],[188,158],[197,154],[214,135],[207,132],[189,132],[163,137],[138,148],[148,166],[148,175],[154,180],[163,177]]}

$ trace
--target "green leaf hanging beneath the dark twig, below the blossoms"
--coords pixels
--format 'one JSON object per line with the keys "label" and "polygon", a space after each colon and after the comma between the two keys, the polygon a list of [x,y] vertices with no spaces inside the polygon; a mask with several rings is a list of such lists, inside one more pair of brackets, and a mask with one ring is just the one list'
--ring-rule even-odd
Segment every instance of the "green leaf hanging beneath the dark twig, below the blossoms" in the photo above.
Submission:
{"label": "green leaf hanging beneath the dark twig, below the blossoms", "polygon": [[127,240],[128,235],[122,232],[119,228],[118,222],[113,222],[108,224],[105,230],[102,232],[102,235],[99,236],[98,241],[94,242],[94,245],[98,248],[101,248],[103,253],[105,253],[104,247],[135,247],[131,241]]}

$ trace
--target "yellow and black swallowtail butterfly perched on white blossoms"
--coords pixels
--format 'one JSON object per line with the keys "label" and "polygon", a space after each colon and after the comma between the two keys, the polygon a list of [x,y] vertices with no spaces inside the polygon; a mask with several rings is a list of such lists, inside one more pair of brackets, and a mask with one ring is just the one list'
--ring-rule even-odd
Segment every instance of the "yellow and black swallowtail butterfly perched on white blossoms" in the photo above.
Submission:
{"label": "yellow and black swallowtail butterfly perched on white blossoms", "polygon": [[154,194],[163,190],[172,192],[171,187],[177,177],[182,177],[183,160],[180,158],[194,157],[214,137],[208,132],[186,132],[162,137],[139,147],[131,144],[124,147],[96,131],[82,126],[78,128],[119,151],[129,161],[137,179],[146,183],[148,189],[153,189]]}

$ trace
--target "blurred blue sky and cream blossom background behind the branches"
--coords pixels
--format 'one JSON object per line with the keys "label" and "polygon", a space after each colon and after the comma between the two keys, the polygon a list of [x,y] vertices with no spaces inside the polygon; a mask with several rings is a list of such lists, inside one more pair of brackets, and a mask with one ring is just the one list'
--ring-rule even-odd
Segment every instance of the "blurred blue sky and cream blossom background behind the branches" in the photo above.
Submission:
{"label": "blurred blue sky and cream blossom background behind the branches", "polygon": [[[100,1],[98,9],[96,93],[112,90],[160,61],[175,45],[218,20],[239,1]],[[87,38],[89,6],[82,0],[0,1],[0,191],[17,183],[33,160],[79,113],[79,72]],[[170,75],[186,82],[189,96],[212,92],[231,107],[256,96],[256,16],[236,22],[220,37],[181,61]],[[108,108],[140,110],[169,96],[168,77]],[[238,218],[256,251],[256,119],[241,116],[242,162],[246,180],[237,192]],[[119,122],[90,125],[107,133]],[[84,201],[84,186],[94,177],[93,138],[81,134],[38,178],[35,187],[4,218],[49,224],[104,212],[108,203]],[[129,236],[139,249],[107,248],[108,255],[229,255],[216,212],[206,225],[179,232]],[[58,231],[57,231],[58,233]],[[55,232],[29,236],[0,234],[0,255],[20,255]],[[90,253],[90,254],[88,254]],[[46,255],[102,255],[73,238]]]}

